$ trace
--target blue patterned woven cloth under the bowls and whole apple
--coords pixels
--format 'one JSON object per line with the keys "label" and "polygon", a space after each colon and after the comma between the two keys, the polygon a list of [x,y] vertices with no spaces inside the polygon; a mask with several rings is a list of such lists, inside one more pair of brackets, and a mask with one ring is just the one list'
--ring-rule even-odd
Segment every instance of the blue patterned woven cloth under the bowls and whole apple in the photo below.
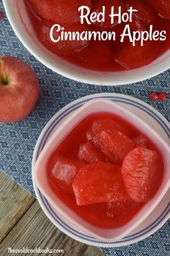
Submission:
{"label": "blue patterned woven cloth under the bowls and whole apple", "polygon": [[[1,0],[0,11],[4,13]],[[41,95],[32,114],[16,124],[0,124],[0,169],[33,196],[35,192],[32,186],[31,162],[35,143],[48,120],[71,101],[94,93],[124,93],[151,104],[170,121],[170,101],[151,103],[148,97],[151,91],[164,91],[170,98],[170,70],[151,80],[121,87],[99,87],[68,80],[44,67],[22,46],[5,13],[0,20],[0,55],[23,59],[35,70],[40,80]],[[118,249],[100,249],[105,255],[168,256],[169,228],[170,221],[167,221],[159,231],[142,242]]]}

